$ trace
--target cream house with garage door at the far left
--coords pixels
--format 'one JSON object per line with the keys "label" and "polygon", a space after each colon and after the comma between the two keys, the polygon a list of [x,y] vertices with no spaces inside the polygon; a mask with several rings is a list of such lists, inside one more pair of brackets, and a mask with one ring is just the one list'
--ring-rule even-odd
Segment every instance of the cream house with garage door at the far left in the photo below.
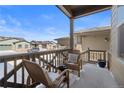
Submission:
{"label": "cream house with garage door at the far left", "polygon": [[30,49],[30,43],[22,38],[7,37],[0,40],[0,51],[27,52],[28,49]]}

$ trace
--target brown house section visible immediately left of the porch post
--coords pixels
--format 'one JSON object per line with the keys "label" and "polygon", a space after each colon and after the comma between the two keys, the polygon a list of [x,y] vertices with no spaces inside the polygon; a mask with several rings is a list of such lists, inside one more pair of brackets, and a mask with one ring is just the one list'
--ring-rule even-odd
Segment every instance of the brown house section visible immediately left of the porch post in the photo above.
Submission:
{"label": "brown house section visible immediately left of the porch post", "polygon": [[57,38],[55,40],[60,45],[60,48],[69,48],[69,46],[70,46],[70,38],[69,37],[61,37],[61,38]]}

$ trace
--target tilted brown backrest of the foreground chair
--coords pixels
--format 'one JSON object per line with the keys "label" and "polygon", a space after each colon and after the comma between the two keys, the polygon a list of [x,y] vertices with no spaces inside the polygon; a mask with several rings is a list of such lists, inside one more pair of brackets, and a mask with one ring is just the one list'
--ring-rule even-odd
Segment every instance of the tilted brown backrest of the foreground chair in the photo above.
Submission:
{"label": "tilted brown backrest of the foreground chair", "polygon": [[53,86],[52,80],[48,76],[48,72],[38,64],[28,60],[23,60],[23,65],[25,66],[29,76],[33,79],[33,81],[42,83],[46,87]]}

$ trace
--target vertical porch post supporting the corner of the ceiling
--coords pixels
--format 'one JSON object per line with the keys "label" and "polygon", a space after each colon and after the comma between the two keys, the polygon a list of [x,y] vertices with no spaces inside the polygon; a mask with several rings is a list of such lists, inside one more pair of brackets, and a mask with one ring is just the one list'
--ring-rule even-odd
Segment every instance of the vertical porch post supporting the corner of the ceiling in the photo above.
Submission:
{"label": "vertical porch post supporting the corner of the ceiling", "polygon": [[70,18],[70,49],[74,48],[74,19]]}

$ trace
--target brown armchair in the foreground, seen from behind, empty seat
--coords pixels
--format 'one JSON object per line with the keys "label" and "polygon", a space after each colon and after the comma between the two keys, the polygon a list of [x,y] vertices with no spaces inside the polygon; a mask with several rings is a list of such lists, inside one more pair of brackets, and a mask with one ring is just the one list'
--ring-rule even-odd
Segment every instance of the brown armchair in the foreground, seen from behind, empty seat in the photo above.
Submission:
{"label": "brown armchair in the foreground, seen from behind, empty seat", "polygon": [[[45,69],[41,68],[35,62],[30,62],[29,60],[23,60],[23,65],[26,68],[32,81],[35,83],[42,83],[47,88],[58,88],[62,84],[67,83],[69,87],[69,71],[64,70],[62,73],[48,73]],[[66,73],[66,75],[65,75]],[[54,77],[52,78],[53,75]]]}

